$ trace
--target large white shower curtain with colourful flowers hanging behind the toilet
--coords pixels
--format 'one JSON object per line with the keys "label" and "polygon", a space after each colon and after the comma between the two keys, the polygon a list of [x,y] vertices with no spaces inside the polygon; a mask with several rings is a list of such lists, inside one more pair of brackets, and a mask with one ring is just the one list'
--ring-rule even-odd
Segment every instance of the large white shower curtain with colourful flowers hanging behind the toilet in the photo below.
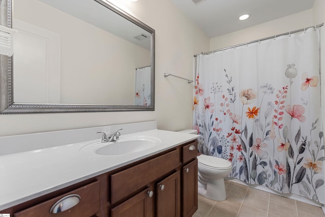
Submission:
{"label": "large white shower curtain with colourful flowers hanging behind the toilet", "polygon": [[230,177],[325,203],[319,28],[196,57],[199,151]]}

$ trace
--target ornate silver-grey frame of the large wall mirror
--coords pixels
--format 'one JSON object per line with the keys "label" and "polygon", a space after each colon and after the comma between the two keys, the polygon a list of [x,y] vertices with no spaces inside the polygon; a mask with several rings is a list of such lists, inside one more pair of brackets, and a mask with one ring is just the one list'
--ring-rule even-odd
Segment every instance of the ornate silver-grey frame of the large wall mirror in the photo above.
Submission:
{"label": "ornate silver-grey frame of the large wall mirror", "polygon": [[[151,33],[151,105],[69,105],[69,104],[25,104],[13,102],[13,58],[0,55],[0,114],[106,112],[106,111],[154,111],[154,59],[155,30],[111,3],[94,0],[128,21]],[[12,28],[12,0],[0,1],[0,25]]]}

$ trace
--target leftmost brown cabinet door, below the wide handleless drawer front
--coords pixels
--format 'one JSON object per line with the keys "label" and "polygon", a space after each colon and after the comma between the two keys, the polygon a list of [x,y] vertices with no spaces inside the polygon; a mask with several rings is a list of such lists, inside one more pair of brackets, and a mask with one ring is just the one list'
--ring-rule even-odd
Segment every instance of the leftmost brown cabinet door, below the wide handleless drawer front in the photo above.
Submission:
{"label": "leftmost brown cabinet door, below the wide handleless drawer front", "polygon": [[[151,193],[151,194],[150,194]],[[111,217],[152,216],[153,192],[149,188],[111,209]]]}

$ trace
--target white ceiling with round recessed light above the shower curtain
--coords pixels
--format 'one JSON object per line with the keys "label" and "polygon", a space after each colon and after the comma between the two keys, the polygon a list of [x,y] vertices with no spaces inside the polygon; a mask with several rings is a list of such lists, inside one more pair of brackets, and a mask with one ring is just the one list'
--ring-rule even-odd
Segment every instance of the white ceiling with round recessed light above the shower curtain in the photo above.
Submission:
{"label": "white ceiling with round recessed light above the shower curtain", "polygon": [[[209,38],[311,9],[314,0],[171,0]],[[247,20],[239,16],[249,14]]]}

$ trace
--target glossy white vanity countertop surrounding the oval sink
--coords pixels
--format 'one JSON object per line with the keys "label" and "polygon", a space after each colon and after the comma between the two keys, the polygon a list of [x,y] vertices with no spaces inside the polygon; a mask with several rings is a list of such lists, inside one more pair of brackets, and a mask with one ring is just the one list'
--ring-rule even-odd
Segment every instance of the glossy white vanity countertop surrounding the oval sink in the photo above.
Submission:
{"label": "glossy white vanity countertop surrounding the oval sink", "polygon": [[157,129],[129,133],[120,138],[122,139],[123,136],[150,136],[160,139],[161,143],[146,150],[117,156],[81,151],[86,144],[101,139],[0,156],[0,210],[112,171],[199,137]]}

